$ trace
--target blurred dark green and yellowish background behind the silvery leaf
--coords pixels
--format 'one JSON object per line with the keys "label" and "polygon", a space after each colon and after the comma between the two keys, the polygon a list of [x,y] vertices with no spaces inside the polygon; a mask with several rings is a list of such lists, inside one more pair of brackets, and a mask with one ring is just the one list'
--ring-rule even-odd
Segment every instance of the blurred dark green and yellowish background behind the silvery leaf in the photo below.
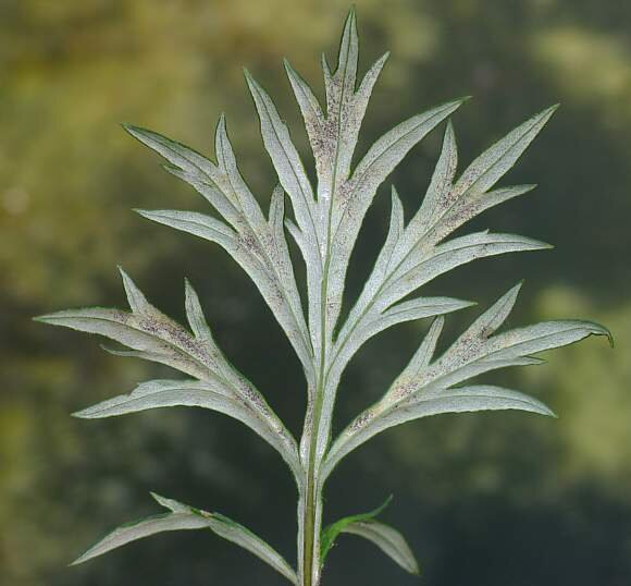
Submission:
{"label": "blurred dark green and yellowish background behind the silvery leaf", "polygon": [[[360,150],[412,113],[471,94],[454,117],[466,163],[535,111],[562,105],[504,181],[540,187],[473,222],[556,249],[473,264],[433,291],[484,306],[525,278],[509,325],[595,319],[610,327],[617,349],[589,340],[556,352],[549,365],[485,378],[543,399],[558,420],[442,416],[381,436],[332,478],[327,520],[393,492],[384,518],[408,536],[426,585],[629,585],[631,3],[360,0],[357,8],[362,66],[393,51]],[[319,53],[335,57],[347,10],[341,0],[0,0],[0,584],[283,583],[199,532],[66,567],[112,526],[156,511],[149,490],[243,521],[293,561],[296,497],[277,455],[225,417],[159,410],[71,418],[166,371],[30,317],[122,306],[122,264],[159,307],[182,318],[186,274],[227,355],[298,432],[302,379],[280,328],[216,246],[131,210],[208,206],[119,123],[212,155],[225,111],[242,171],[267,206],[275,180],[240,68],[271,90],[308,159],[281,60],[289,57],[321,95]],[[392,178],[408,215],[429,182],[440,134]],[[349,300],[383,240],[388,188],[389,181],[367,217]],[[449,317],[448,335],[477,312]],[[336,428],[385,390],[423,328],[399,326],[358,355]],[[343,537],[324,584],[418,583],[372,548]]]}

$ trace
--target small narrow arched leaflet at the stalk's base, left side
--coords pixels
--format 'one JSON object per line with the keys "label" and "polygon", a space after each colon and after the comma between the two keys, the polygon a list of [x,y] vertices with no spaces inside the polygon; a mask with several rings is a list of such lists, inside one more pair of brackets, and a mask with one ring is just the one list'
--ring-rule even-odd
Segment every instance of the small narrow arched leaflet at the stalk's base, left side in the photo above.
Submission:
{"label": "small narrow arched leaflet at the stalk's base, left side", "polygon": [[285,576],[292,584],[298,584],[296,573],[283,557],[243,525],[220,513],[208,513],[173,499],[166,499],[156,493],[152,493],[152,496],[159,504],[169,509],[169,513],[121,525],[73,562],[73,565],[158,533],[178,529],[210,529],[215,535],[257,556]]}

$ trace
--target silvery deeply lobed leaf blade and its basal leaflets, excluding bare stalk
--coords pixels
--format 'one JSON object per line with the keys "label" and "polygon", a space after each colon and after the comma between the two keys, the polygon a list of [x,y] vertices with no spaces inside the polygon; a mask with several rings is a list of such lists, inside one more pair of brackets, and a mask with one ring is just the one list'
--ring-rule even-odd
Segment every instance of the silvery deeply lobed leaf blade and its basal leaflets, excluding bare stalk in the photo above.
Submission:
{"label": "silvery deeply lobed leaf blade and its basal leaflets, excluding bare stalk", "polygon": [[[153,307],[122,270],[131,310],[92,307],[58,312],[37,319],[103,335],[127,349],[111,350],[112,353],[161,363],[187,378],[144,382],[129,394],[77,412],[77,417],[109,417],[169,406],[215,411],[242,422],[276,450],[300,488],[308,469],[314,471],[313,480],[323,486],[335,466],[356,448],[385,429],[413,419],[493,410],[553,415],[543,403],[518,391],[467,381],[498,368],[539,364],[542,361],[535,354],[591,334],[610,339],[605,328],[589,321],[564,320],[497,333],[515,305],[520,289],[517,285],[483,312],[442,355],[435,356],[444,316],[472,303],[450,297],[411,296],[436,277],[472,260],[549,247],[529,237],[488,231],[449,236],[483,211],[533,190],[534,185],[496,187],[496,184],[547,123],[556,107],[517,126],[459,174],[456,135],[449,117],[467,98],[446,101],[408,118],[358,157],[355,150],[370,95],[388,58],[384,54],[360,78],[356,16],[351,11],[344,26],[336,70],[332,72],[326,59],[322,60],[324,105],[285,61],[311,147],[316,187],[271,97],[246,72],[263,145],[279,181],[267,213],[240,174],[223,115],[215,130],[214,161],[153,131],[125,125],[134,137],[165,159],[168,172],[205,197],[214,215],[137,211],[224,248],[251,278],[285,332],[302,365],[307,383],[308,408],[300,442],[286,429],[263,394],[218,346],[200,301],[188,282],[185,284],[188,327],[185,328]],[[445,121],[441,152],[430,185],[419,198],[420,206],[406,223],[401,200],[392,187],[386,239],[361,293],[344,322],[339,322],[350,256],[379,186],[413,146]],[[355,167],[354,160],[359,161]],[[290,204],[289,213],[286,199]],[[305,307],[286,231],[306,265]],[[424,318],[433,318],[432,325],[408,366],[381,400],[367,407],[331,441],[338,382],[354,355],[380,332]],[[318,459],[316,464],[310,461],[312,457]],[[216,513],[156,498],[170,509],[169,513],[120,527],[77,563],[154,533],[210,528],[257,554],[294,584],[298,583],[294,570],[240,525]],[[344,532],[371,540],[401,567],[418,573],[418,564],[400,534],[375,521],[380,511],[345,517],[327,527],[322,536],[321,560],[336,536]]]}

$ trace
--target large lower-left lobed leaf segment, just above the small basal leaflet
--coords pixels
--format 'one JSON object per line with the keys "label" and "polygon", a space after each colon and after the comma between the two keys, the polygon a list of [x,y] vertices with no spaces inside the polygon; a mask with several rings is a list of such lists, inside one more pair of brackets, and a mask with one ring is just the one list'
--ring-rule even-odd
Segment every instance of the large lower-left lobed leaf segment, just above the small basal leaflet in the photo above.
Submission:
{"label": "large lower-left lobed leaf segment, just above the small basal leaflet", "polygon": [[165,364],[199,380],[188,381],[186,391],[177,388],[177,382],[174,388],[173,381],[146,383],[131,395],[106,401],[79,416],[103,417],[158,406],[207,406],[252,428],[297,474],[299,461],[294,438],[256,387],[223,356],[190,284],[186,285],[186,312],[194,334],[150,305],[132,279],[123,271],[122,276],[133,313],[97,307],[58,312],[37,319],[104,335],[132,349],[125,355]]}

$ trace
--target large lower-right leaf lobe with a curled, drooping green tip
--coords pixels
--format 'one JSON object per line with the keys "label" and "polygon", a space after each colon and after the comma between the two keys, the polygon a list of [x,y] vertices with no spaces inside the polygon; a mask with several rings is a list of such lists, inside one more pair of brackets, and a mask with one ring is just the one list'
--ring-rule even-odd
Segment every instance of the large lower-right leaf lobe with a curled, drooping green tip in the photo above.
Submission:
{"label": "large lower-right leaf lobe with a curled, drooping green tip", "polygon": [[451,388],[497,368],[540,364],[542,361],[531,354],[571,344],[587,335],[607,335],[611,341],[606,328],[577,320],[545,321],[492,335],[512,309],[520,286],[518,284],[503,295],[434,362],[430,362],[430,356],[442,325],[432,328],[431,335],[381,401],[361,413],[335,440],[326,456],[324,476],[346,454],[374,435],[426,415],[495,408],[549,415],[552,412],[547,412],[547,407],[531,398],[515,394],[516,391],[488,386]]}

